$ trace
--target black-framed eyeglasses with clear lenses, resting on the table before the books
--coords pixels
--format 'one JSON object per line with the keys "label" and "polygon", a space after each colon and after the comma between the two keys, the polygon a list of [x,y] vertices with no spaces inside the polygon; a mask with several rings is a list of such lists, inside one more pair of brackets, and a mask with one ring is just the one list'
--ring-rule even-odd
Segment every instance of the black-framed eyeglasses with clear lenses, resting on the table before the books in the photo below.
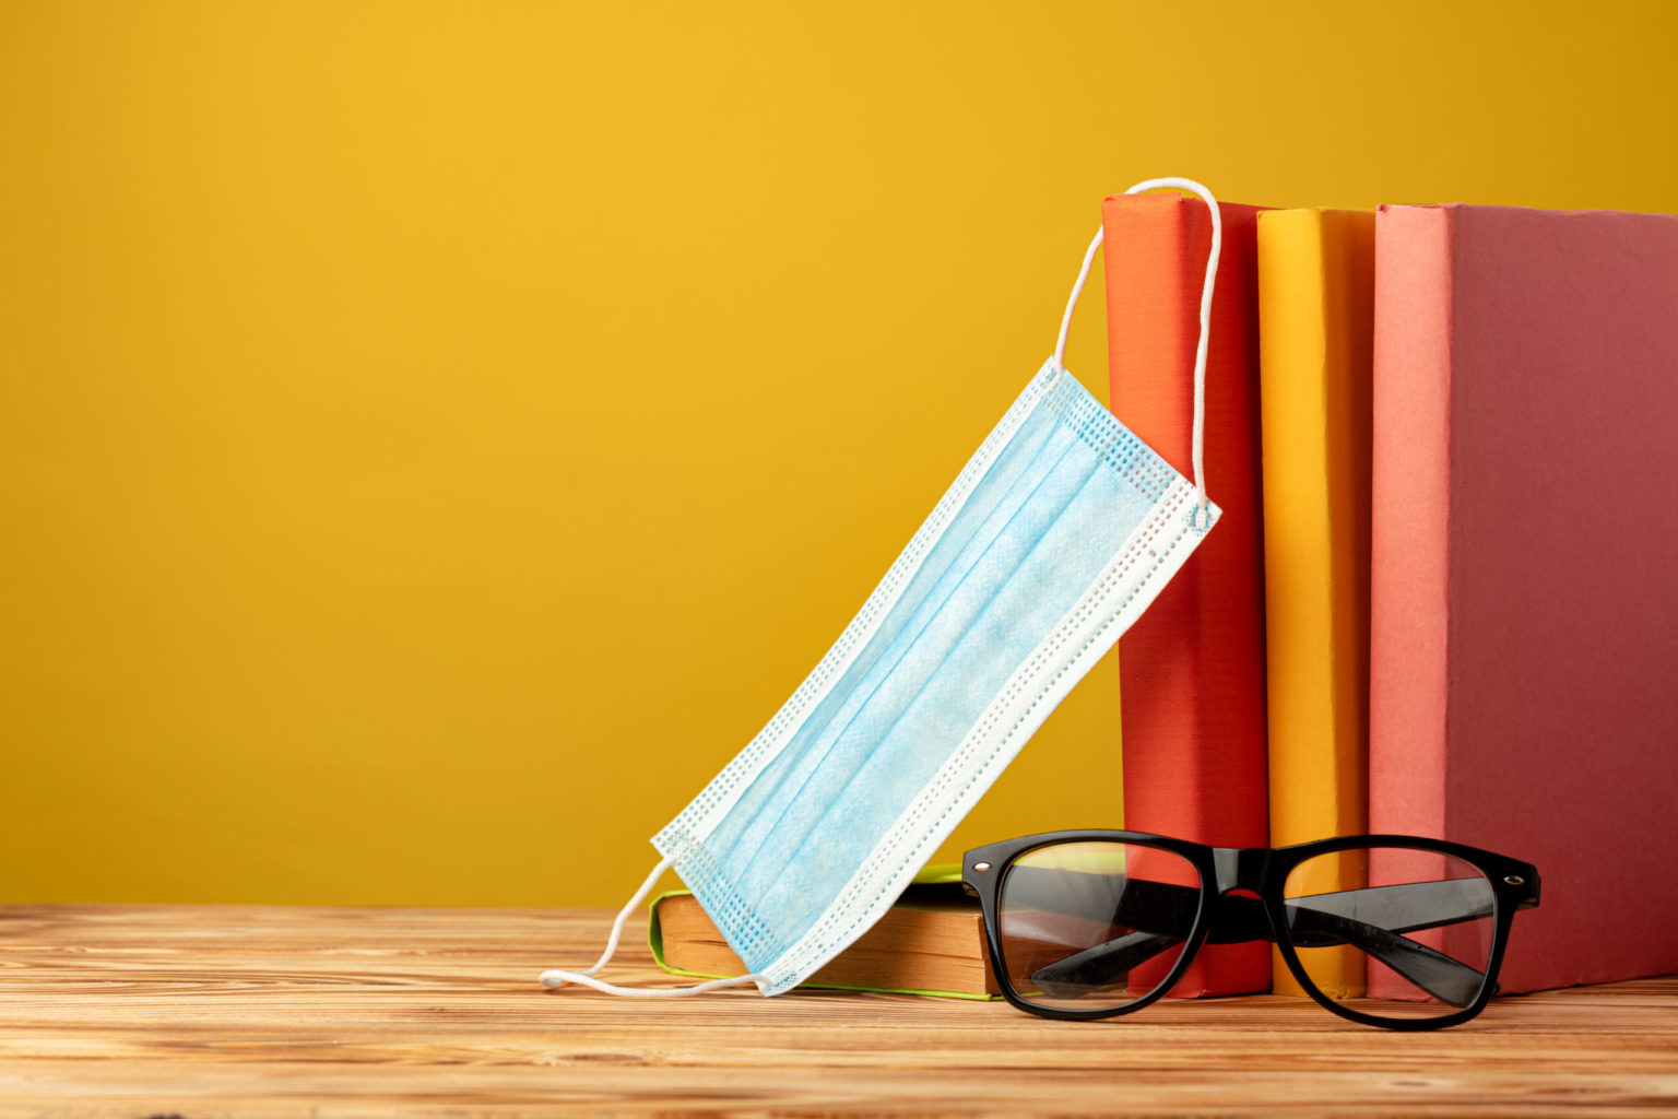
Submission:
{"label": "black-framed eyeglasses with clear lenses, resting on the table before the books", "polygon": [[968,851],[961,879],[1003,997],[1049,1018],[1141,1010],[1201,945],[1267,939],[1342,1018],[1436,1030],[1485,1008],[1515,911],[1539,904],[1532,864],[1418,835],[1242,849],[1047,832]]}

